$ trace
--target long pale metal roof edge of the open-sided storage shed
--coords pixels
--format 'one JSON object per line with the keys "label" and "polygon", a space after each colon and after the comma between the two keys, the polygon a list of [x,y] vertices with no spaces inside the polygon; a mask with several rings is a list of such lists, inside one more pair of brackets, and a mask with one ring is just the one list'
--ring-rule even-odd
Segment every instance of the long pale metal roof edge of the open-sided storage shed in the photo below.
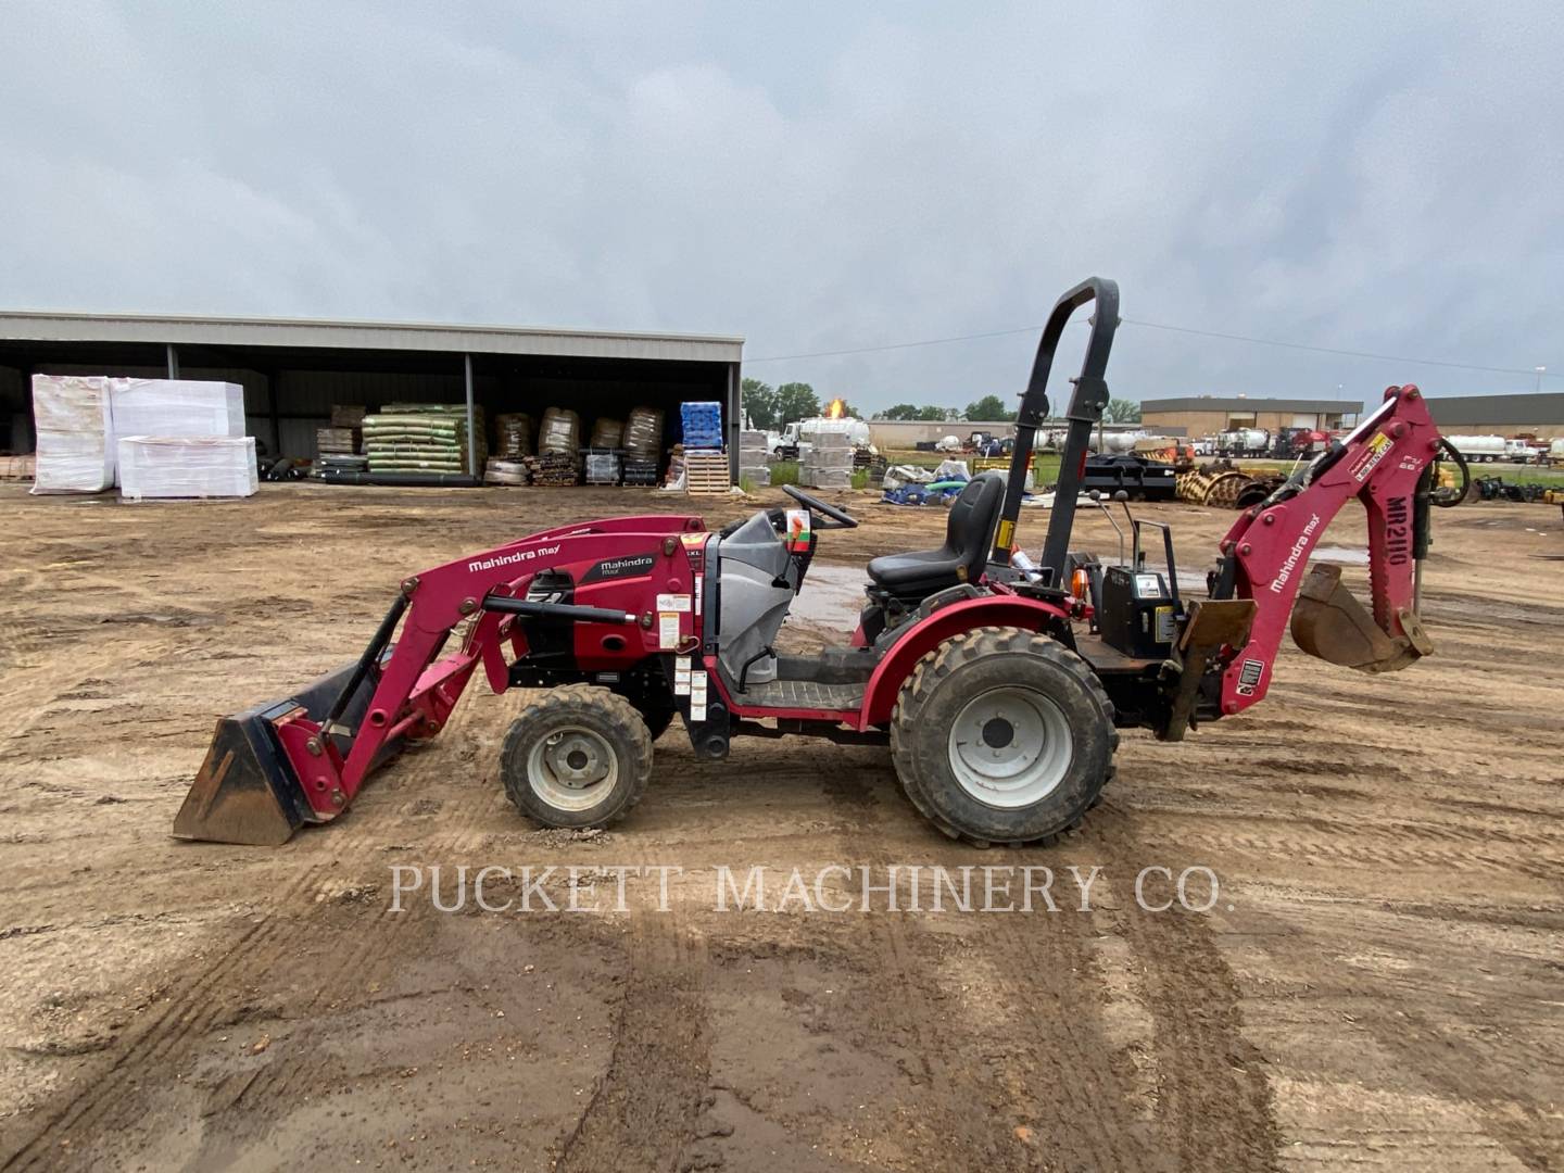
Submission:
{"label": "long pale metal roof edge of the open-sided storage shed", "polygon": [[744,349],[743,338],[712,335],[543,330],[438,322],[341,322],[296,317],[41,313],[33,310],[0,311],[0,339],[271,346],[325,350],[438,350],[715,363],[737,363]]}

